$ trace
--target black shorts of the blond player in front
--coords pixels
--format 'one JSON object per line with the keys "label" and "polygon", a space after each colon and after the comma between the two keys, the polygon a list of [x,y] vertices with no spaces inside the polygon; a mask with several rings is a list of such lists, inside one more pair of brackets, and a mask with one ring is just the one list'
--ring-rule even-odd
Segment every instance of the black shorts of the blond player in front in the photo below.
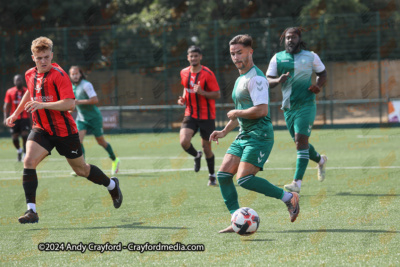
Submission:
{"label": "black shorts of the blond player in front", "polygon": [[49,155],[51,155],[53,148],[56,147],[58,153],[68,159],[76,159],[82,156],[82,146],[78,133],[60,137],[49,135],[47,132],[35,128],[29,134],[28,140],[38,143],[49,152]]}

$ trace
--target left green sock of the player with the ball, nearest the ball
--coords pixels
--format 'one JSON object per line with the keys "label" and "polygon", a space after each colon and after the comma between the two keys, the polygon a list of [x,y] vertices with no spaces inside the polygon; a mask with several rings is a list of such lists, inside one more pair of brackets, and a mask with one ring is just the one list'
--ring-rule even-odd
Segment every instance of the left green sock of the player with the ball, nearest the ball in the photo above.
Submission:
{"label": "left green sock of the player with the ball, nearest the ball", "polygon": [[233,174],[227,172],[218,172],[217,179],[222,198],[229,212],[232,214],[239,209],[239,200],[236,187],[233,183]]}

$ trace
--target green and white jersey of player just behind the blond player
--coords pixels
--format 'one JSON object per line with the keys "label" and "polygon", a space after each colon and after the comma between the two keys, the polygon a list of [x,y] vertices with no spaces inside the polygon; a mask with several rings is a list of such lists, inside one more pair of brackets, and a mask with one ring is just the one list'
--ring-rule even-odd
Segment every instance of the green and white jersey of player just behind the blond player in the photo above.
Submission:
{"label": "green and white jersey of player just behind the blond player", "polygon": [[[72,84],[72,89],[77,100],[90,99],[97,96],[92,83],[87,80],[82,80],[78,85]],[[100,110],[96,105],[76,105],[76,110],[78,111],[76,116],[78,121],[90,121],[99,116],[101,117]]]}

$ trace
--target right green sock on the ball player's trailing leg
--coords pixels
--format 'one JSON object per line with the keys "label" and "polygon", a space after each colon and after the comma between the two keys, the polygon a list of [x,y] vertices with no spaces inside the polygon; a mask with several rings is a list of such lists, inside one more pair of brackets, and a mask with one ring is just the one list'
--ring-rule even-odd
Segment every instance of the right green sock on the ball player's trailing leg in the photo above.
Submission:
{"label": "right green sock on the ball player's trailing leg", "polygon": [[253,174],[239,178],[238,184],[247,190],[255,191],[266,195],[267,197],[274,197],[282,199],[284,191],[267,180],[254,176]]}

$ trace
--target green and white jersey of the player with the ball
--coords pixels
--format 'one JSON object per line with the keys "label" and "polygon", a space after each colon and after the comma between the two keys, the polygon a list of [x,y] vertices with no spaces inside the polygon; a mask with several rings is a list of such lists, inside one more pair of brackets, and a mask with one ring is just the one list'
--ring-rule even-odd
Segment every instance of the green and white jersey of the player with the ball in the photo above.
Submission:
{"label": "green and white jersey of the player with the ball", "polygon": [[[235,108],[245,110],[260,104],[269,104],[268,81],[264,73],[253,66],[247,73],[237,78],[232,91]],[[240,131],[238,138],[252,137],[262,140],[273,140],[271,118],[268,115],[258,119],[238,118]]]}

